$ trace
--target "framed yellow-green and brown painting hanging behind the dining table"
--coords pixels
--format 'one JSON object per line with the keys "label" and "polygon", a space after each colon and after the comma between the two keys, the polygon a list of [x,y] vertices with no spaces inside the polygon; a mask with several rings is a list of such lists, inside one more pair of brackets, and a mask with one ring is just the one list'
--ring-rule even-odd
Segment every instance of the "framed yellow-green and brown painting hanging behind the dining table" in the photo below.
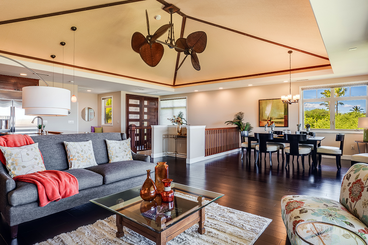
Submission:
{"label": "framed yellow-green and brown painting hanging behind the dining table", "polygon": [[288,104],[281,99],[259,100],[259,127],[271,126],[288,127]]}

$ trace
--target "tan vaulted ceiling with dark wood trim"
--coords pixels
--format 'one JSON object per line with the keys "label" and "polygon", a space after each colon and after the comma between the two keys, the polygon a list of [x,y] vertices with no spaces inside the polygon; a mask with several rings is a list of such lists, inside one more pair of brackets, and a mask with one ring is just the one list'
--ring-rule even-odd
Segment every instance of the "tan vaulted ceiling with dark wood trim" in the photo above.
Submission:
{"label": "tan vaulted ceiling with dark wood trim", "polygon": [[[111,1],[1,1],[0,53],[50,64],[54,54],[57,65],[169,87],[285,74],[289,50],[293,72],[331,69],[308,0]],[[147,35],[145,10],[151,34],[169,23],[170,14],[162,10],[168,3],[180,8],[173,14],[176,39],[199,30],[207,34],[206,50],[198,54],[200,71],[190,59],[176,71],[184,55],[167,46],[156,67],[131,48],[134,32]],[[60,42],[66,42],[64,58]]]}

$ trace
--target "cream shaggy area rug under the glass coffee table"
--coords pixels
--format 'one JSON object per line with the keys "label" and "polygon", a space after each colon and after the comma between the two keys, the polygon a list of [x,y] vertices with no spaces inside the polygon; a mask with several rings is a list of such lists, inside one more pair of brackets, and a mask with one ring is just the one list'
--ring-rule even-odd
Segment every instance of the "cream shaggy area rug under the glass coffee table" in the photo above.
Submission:
{"label": "cream shaggy area rug under the glass coffee table", "polygon": [[[197,232],[198,224],[190,227],[168,245],[251,245],[271,219],[227,208],[217,203],[206,206],[206,232]],[[156,243],[124,227],[124,237],[116,237],[116,216],[60,234],[37,245],[155,245]]]}

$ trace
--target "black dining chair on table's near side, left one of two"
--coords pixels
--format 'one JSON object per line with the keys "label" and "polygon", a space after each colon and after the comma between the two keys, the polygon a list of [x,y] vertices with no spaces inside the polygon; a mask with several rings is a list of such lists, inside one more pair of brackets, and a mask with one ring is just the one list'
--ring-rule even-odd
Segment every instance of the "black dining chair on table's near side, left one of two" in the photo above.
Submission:
{"label": "black dining chair on table's near side, left one of two", "polygon": [[259,144],[255,146],[256,150],[256,159],[255,163],[258,162],[259,154],[261,154],[260,158],[262,158],[262,153],[265,155],[268,153],[270,156],[270,165],[272,166],[272,153],[277,152],[277,162],[279,161],[279,155],[280,155],[280,147],[278,145],[272,145],[270,143],[267,143],[267,140],[273,140],[273,134],[268,133],[254,133],[254,137],[258,140]]}

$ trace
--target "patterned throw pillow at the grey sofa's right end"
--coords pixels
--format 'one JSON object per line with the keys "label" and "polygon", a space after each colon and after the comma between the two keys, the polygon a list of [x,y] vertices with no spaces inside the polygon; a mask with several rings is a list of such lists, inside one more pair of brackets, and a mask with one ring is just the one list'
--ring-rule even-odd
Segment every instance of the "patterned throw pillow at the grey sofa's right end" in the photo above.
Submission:
{"label": "patterned throw pillow at the grey sofa's right end", "polygon": [[130,138],[127,140],[106,140],[109,162],[133,160]]}

